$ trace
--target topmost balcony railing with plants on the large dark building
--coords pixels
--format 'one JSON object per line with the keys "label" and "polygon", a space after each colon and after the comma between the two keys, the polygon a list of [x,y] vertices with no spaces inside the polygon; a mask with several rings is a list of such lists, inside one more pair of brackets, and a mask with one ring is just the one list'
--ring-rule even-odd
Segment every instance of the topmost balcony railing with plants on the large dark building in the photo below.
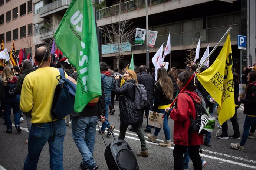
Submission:
{"label": "topmost balcony railing with plants on the large dark building", "polygon": [[[158,4],[163,4],[170,1],[177,1],[177,0],[148,0],[148,7],[158,5]],[[119,13],[119,4],[97,10],[96,12],[97,20],[100,20],[106,17],[115,16],[122,13],[126,13],[129,11],[145,8],[145,0],[130,0],[122,3],[120,7],[121,7],[120,13]]]}

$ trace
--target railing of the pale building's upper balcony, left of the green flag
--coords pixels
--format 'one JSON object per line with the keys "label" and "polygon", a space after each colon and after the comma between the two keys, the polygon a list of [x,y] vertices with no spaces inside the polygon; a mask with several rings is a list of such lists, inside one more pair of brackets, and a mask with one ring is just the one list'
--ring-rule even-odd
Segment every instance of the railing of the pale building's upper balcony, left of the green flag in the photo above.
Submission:
{"label": "railing of the pale building's upper balcony, left of the green flag", "polygon": [[45,14],[49,11],[55,10],[63,6],[69,6],[72,0],[57,0],[49,3],[39,9],[40,15]]}

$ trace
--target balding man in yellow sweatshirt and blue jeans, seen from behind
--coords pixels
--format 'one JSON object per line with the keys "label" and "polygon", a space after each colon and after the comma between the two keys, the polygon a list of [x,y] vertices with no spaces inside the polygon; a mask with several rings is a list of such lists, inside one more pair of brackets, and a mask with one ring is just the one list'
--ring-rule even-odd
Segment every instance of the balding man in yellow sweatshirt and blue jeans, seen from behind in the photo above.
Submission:
{"label": "balding man in yellow sweatshirt and blue jeans, seen from behind", "polygon": [[[43,146],[48,142],[50,169],[63,170],[65,120],[52,122],[50,111],[55,87],[58,84],[56,76],[60,73],[57,68],[50,67],[51,57],[46,47],[37,48],[34,59],[39,64],[39,68],[25,77],[20,95],[20,109],[23,112],[32,111],[28,154],[23,169],[36,169]],[[53,130],[55,130],[54,142]]]}

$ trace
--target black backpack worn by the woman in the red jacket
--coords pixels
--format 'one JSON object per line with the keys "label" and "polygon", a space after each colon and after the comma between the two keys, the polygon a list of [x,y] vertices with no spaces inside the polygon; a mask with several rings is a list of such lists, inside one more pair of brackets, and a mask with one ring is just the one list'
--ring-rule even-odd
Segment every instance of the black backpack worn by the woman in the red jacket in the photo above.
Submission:
{"label": "black backpack worn by the woman in the red jacket", "polygon": [[[184,92],[184,93],[186,93],[186,92]],[[191,133],[193,133],[193,132],[199,133],[199,129],[201,127],[201,117],[202,117],[202,115],[207,115],[207,111],[204,108],[204,106],[202,105],[202,103],[196,103],[196,101],[191,97],[191,95],[189,93],[186,93],[186,94],[188,96],[190,96],[190,98],[193,100],[193,103],[194,103],[194,106],[196,109],[195,119],[193,119],[191,115],[189,116],[191,124],[188,129],[188,136],[190,136]],[[206,134],[206,133],[208,133],[208,131],[202,129],[199,134]]]}

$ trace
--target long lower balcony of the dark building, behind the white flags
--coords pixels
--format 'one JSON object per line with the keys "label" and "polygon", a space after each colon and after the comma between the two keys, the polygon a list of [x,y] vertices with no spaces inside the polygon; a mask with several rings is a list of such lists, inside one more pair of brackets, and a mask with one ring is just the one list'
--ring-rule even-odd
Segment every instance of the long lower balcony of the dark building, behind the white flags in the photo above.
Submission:
{"label": "long lower balcony of the dark building, behind the white flags", "polygon": [[[206,48],[209,43],[210,43],[210,47],[214,47],[217,44],[217,42],[219,42],[220,38],[223,37],[223,35],[226,33],[229,27],[232,27],[232,29],[230,30],[231,45],[235,45],[237,44],[237,35],[239,35],[240,33],[240,24],[171,34],[171,49],[172,50],[190,49],[190,46],[193,45],[193,42],[194,42],[193,48],[196,48],[196,44],[198,43],[200,36],[201,36],[201,48]],[[155,47],[150,48],[150,52],[157,51],[158,48],[160,48],[164,42],[167,42],[167,38],[168,38],[168,34],[158,35],[157,40],[155,42]],[[221,45],[223,45],[224,42],[225,40],[222,41]],[[146,43],[144,43],[143,46],[134,45],[134,40],[130,41],[129,43],[131,44],[132,53],[134,54],[146,53]],[[109,45],[109,44],[102,44],[102,45]],[[131,54],[131,52],[130,51],[124,52],[124,55]],[[109,57],[114,55],[114,53],[110,53],[110,52],[108,54],[106,53],[107,52],[103,52],[102,57]],[[102,54],[102,51],[101,51],[101,54]]]}

